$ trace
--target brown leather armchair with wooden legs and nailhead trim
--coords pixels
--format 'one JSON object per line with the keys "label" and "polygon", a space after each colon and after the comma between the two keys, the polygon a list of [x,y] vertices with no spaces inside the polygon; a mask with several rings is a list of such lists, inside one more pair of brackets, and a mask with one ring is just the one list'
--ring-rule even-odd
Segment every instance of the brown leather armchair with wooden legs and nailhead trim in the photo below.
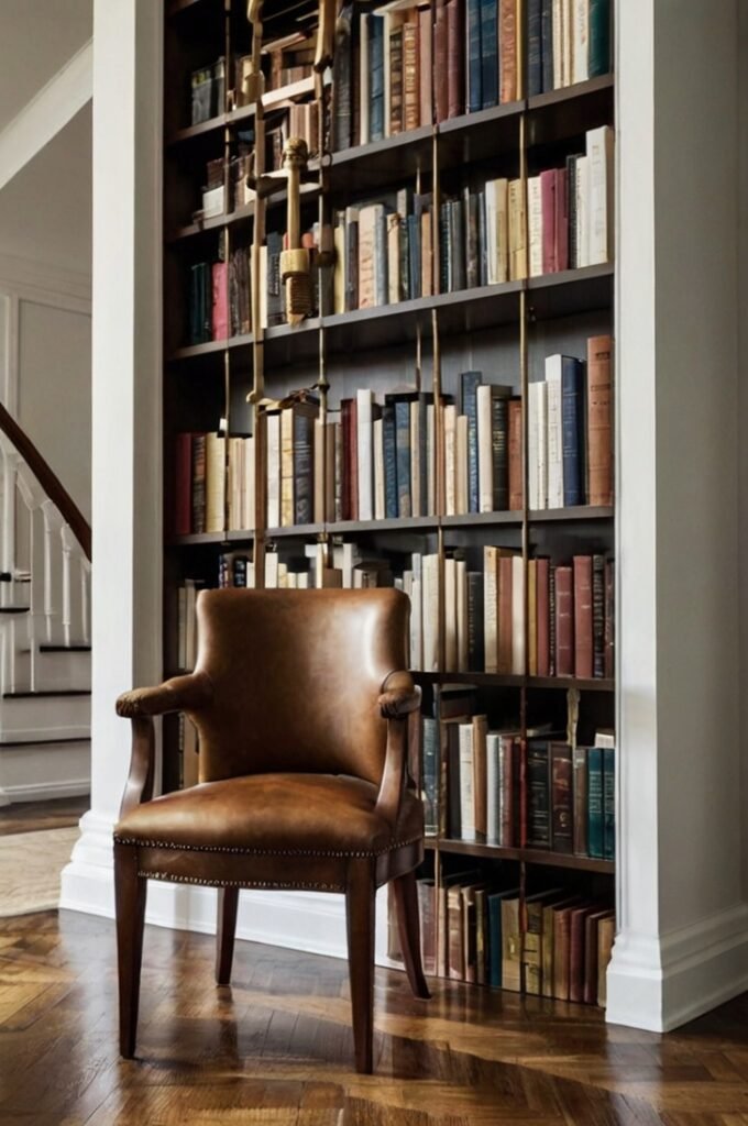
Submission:
{"label": "brown leather armchair with wooden legs and nailhead trim", "polygon": [[[356,1067],[373,1064],[374,903],[393,882],[406,969],[424,978],[409,772],[420,689],[397,590],[204,591],[189,676],[125,692],[133,756],[114,833],[121,1052],[135,1052],[149,879],[219,888],[216,982],[229,984],[242,887],[346,896]],[[199,733],[199,785],[151,798],[153,716]]]}

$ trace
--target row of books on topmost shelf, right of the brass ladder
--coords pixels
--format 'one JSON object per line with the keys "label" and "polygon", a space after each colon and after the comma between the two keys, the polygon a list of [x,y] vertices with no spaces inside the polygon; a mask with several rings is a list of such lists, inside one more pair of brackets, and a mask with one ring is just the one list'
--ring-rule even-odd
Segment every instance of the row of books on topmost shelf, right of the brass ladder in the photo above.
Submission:
{"label": "row of books on topmost shelf, right of the brass ladder", "polygon": [[[527,81],[524,79],[527,43]],[[611,69],[609,0],[436,0],[356,14],[333,61],[333,148],[584,82]]]}

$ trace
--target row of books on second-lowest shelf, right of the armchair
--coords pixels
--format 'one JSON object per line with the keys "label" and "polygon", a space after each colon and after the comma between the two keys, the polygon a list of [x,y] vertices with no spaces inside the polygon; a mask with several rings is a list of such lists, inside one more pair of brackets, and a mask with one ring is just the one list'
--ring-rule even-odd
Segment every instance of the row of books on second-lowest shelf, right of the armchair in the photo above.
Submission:
{"label": "row of books on second-lowest shelf, right of the armchair", "polygon": [[[613,860],[615,749],[489,731],[484,715],[422,720],[426,834]],[[605,745],[603,745],[605,744]]]}

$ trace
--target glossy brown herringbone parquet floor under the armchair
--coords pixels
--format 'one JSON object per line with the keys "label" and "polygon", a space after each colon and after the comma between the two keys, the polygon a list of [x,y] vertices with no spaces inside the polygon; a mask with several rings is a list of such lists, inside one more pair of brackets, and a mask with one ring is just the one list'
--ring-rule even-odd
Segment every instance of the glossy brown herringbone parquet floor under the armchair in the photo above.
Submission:
{"label": "glossy brown herringbone parquet floor under the armchair", "polygon": [[2,1126],[748,1126],[748,999],[660,1037],[584,1007],[377,971],[376,1074],[351,1062],[346,965],[146,928],[140,1058],[117,1054],[114,926],[0,923]]}

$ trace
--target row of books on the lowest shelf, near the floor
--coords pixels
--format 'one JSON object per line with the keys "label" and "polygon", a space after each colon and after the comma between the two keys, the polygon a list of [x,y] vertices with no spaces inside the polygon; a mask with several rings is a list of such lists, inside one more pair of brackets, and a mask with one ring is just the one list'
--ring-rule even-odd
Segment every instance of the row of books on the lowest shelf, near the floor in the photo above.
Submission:
{"label": "row of books on the lowest shelf, near the floor", "polygon": [[605,1007],[615,914],[604,903],[562,887],[522,897],[480,872],[417,886],[427,974]]}

